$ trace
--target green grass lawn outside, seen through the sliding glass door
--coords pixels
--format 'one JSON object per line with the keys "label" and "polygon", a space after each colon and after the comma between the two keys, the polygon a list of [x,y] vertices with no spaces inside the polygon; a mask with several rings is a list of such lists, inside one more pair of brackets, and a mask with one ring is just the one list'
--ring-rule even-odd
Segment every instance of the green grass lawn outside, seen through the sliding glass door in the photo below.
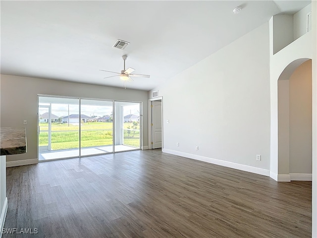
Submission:
{"label": "green grass lawn outside, seen through the sliding glass door", "polygon": [[[48,123],[39,123],[39,145],[47,146],[49,143]],[[133,124],[129,122],[124,123],[124,129],[132,128]],[[133,131],[128,133],[124,130],[123,144],[139,147],[140,146],[140,132]],[[112,145],[112,122],[85,122],[81,126],[81,147],[94,147]],[[64,150],[79,148],[79,126],[68,123],[52,123],[51,133],[51,147],[52,150]]]}

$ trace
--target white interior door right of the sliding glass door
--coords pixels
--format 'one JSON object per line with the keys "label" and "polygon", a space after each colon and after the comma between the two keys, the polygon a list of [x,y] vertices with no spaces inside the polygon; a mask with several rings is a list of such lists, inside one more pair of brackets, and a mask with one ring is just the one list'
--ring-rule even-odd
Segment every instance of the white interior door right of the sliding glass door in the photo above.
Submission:
{"label": "white interior door right of the sliding glass door", "polygon": [[162,102],[152,101],[152,149],[162,148]]}

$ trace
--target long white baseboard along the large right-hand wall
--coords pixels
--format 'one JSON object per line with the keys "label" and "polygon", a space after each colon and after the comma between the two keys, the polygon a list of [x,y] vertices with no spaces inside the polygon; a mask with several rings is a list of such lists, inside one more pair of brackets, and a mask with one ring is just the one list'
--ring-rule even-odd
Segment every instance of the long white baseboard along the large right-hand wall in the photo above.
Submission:
{"label": "long white baseboard along the large right-hand wall", "polygon": [[169,149],[162,149],[162,152],[168,153],[168,154],[173,154],[173,155],[178,155],[178,156],[182,156],[182,157],[186,157],[186,158],[190,158],[190,159],[194,159],[194,160],[204,161],[204,162],[215,164],[215,165],[221,165],[221,166],[229,167],[232,169],[251,172],[254,174],[258,174],[258,175],[270,176],[269,170],[264,170],[261,168],[256,168],[256,167],[252,167],[252,166],[248,166],[248,165],[240,165],[240,164],[233,163],[233,162],[212,159],[212,158],[205,157],[205,156],[193,155],[193,154],[179,152],[179,151],[175,151],[175,150],[169,150]]}

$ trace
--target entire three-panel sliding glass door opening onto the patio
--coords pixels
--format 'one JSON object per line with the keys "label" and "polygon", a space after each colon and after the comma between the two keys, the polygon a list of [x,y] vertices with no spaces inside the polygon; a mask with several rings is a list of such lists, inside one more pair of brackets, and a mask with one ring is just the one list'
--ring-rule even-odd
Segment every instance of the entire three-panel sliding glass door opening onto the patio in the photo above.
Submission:
{"label": "entire three-panel sliding glass door opening onto the patio", "polygon": [[141,103],[39,96],[39,160],[141,149]]}

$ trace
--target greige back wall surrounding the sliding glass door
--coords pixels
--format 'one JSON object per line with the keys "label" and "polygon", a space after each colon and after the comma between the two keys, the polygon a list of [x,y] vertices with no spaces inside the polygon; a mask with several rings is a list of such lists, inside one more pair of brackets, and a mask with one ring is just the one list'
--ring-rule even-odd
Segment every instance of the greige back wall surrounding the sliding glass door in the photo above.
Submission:
{"label": "greige back wall surrounding the sliding glass door", "polygon": [[[1,126],[22,127],[27,119],[27,153],[11,155],[7,161],[36,159],[37,154],[37,94],[74,96],[109,100],[143,102],[143,114],[148,115],[146,91],[72,83],[39,78],[1,75]],[[148,119],[143,118],[143,146],[148,146]]]}

